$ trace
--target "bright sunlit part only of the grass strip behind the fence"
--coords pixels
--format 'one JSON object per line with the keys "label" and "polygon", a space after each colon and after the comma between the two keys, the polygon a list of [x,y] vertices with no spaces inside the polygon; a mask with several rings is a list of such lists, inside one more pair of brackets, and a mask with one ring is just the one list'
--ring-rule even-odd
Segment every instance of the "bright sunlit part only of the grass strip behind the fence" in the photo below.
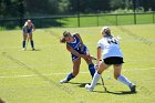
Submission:
{"label": "bright sunlit part only of the grass strip behind the fence", "polygon": [[[62,27],[78,27],[78,18],[62,18],[59,20]],[[136,14],[136,23],[154,23],[153,14]],[[97,25],[120,25],[134,24],[134,14],[103,14],[103,16],[84,16],[80,18],[80,27],[97,27]]]}

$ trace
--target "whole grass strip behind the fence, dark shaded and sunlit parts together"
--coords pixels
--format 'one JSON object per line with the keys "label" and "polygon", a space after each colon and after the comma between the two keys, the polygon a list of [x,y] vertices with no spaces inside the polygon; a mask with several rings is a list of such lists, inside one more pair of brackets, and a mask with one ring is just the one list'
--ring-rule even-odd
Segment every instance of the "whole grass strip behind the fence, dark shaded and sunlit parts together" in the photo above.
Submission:
{"label": "whole grass strip behind the fence, dark shaded and sunlit parts together", "polygon": [[[37,28],[76,28],[79,27],[79,19],[75,16],[58,17],[46,19],[32,19]],[[80,27],[100,27],[100,25],[125,25],[134,24],[134,14],[81,14]],[[154,13],[137,13],[136,24],[155,23]],[[4,27],[2,27],[4,25]],[[19,20],[2,21],[0,30],[19,29]]]}

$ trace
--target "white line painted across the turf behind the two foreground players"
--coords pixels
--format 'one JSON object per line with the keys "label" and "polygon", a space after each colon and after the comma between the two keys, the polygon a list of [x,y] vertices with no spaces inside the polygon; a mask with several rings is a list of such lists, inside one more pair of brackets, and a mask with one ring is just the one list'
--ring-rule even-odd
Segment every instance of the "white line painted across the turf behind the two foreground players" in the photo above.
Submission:
{"label": "white line painted across the turf behind the two foreground players", "polygon": [[[126,70],[123,70],[123,72],[126,72],[126,71],[147,71],[147,70],[155,70],[155,68],[147,68],[147,69],[126,69]],[[110,71],[108,71],[110,72]],[[80,72],[80,74],[89,74],[90,72]],[[42,75],[45,75],[45,76],[49,76],[49,75],[66,75],[69,73],[49,73],[49,74],[42,74]],[[0,79],[12,79],[12,78],[34,78],[34,76],[39,76],[39,74],[30,74],[30,75],[4,75],[4,76],[0,76]]]}

